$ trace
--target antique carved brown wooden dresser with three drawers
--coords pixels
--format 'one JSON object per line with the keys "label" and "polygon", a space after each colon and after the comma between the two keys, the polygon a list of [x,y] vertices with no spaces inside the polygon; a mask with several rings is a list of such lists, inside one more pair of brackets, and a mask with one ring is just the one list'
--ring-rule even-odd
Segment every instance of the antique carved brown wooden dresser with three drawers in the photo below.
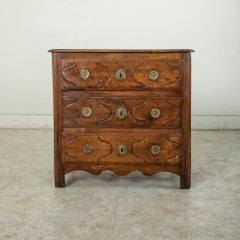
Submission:
{"label": "antique carved brown wooden dresser with three drawers", "polygon": [[55,186],[84,170],[191,178],[191,52],[50,50]]}

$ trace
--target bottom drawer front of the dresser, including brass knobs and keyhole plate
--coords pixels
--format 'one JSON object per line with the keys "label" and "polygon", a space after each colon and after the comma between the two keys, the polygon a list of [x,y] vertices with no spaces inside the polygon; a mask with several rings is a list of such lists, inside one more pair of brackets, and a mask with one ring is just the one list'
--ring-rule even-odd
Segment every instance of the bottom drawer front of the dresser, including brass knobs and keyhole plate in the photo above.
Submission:
{"label": "bottom drawer front of the dresser, including brass knobs and keyhole plate", "polygon": [[64,163],[179,165],[181,135],[65,134]]}

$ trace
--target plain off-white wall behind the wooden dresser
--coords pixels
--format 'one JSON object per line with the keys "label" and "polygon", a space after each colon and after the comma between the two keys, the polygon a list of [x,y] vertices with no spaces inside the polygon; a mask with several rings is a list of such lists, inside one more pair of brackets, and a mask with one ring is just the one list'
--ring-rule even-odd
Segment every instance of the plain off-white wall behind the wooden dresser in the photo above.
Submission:
{"label": "plain off-white wall behind the wooden dresser", "polygon": [[238,0],[0,0],[0,24],[2,127],[52,117],[52,48],[194,49],[195,127],[240,125]]}

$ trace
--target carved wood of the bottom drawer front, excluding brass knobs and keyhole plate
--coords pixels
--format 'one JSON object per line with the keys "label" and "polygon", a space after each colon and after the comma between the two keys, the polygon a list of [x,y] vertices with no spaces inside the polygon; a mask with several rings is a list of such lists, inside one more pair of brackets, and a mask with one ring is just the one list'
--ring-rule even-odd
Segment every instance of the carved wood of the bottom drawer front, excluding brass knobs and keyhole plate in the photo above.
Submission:
{"label": "carved wood of the bottom drawer front, excluding brass knobs and keyhole plate", "polygon": [[[124,142],[128,146],[130,145],[128,153],[120,158],[117,155],[117,145],[119,142]],[[82,150],[82,146],[86,143],[93,146],[93,151],[89,155],[86,155]],[[150,149],[153,144],[158,144],[161,147],[158,155],[151,154]],[[177,136],[173,138],[168,136],[135,136],[134,138],[123,136],[119,140],[109,136],[73,136],[64,140],[63,145],[64,161],[77,164],[87,163],[89,156],[91,157],[91,164],[124,164],[128,162],[130,157],[132,159],[131,162],[135,164],[178,165],[181,156],[181,139]]]}

